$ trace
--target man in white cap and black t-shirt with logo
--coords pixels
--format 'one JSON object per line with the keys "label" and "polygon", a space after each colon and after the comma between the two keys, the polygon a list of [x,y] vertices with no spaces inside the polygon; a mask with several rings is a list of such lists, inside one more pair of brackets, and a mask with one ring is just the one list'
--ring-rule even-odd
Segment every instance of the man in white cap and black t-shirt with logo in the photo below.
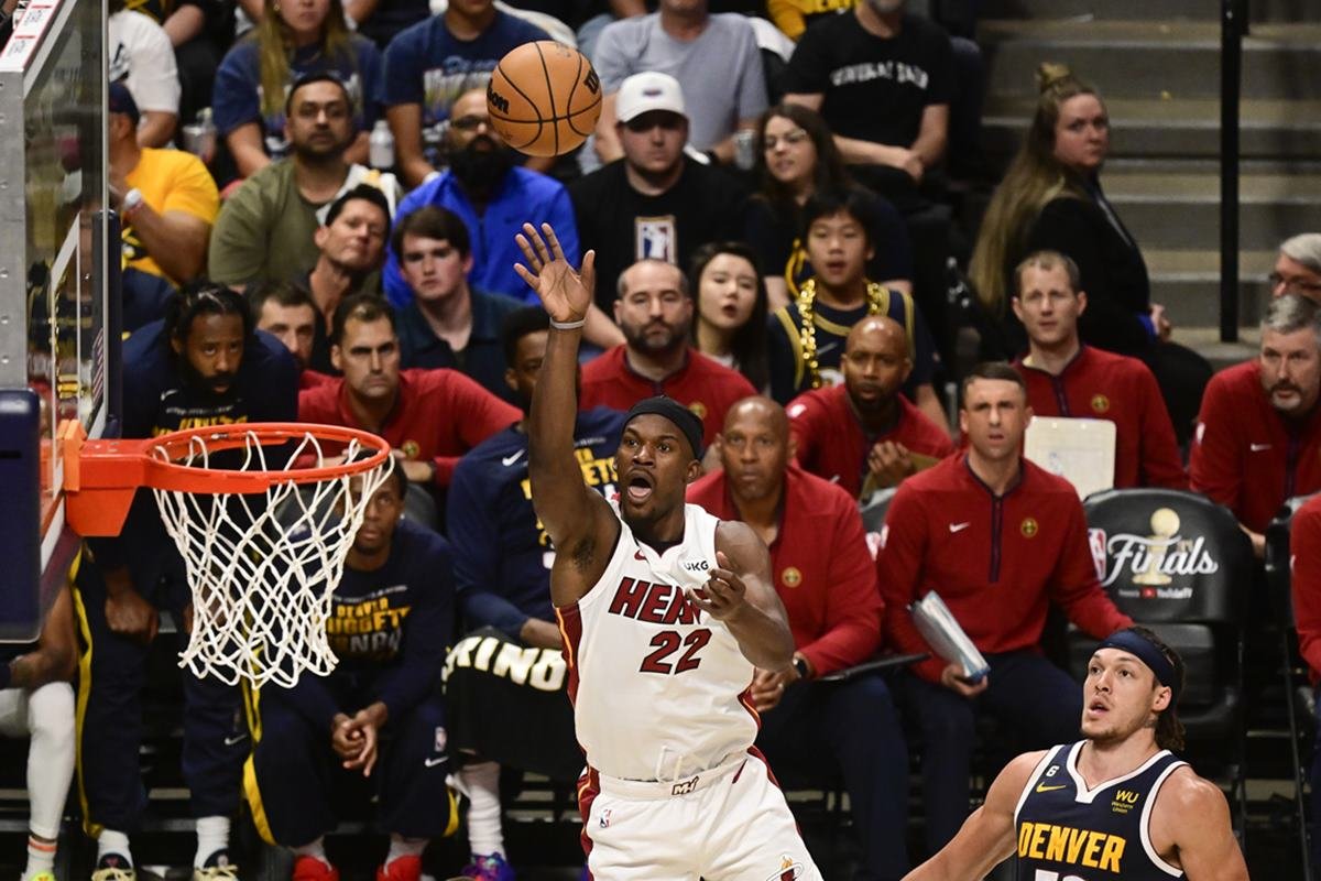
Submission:
{"label": "man in white cap and black t-shirt with logo", "polygon": [[596,302],[606,314],[620,275],[638,260],[684,268],[699,244],[742,238],[745,205],[733,176],[687,149],[679,81],[634,74],[614,98],[622,159],[569,186],[581,250],[596,250]]}

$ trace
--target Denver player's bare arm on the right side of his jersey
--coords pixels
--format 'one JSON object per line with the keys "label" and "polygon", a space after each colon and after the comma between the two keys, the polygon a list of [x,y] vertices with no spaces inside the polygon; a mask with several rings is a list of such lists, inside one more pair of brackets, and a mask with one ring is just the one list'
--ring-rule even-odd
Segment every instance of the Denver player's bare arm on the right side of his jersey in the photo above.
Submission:
{"label": "Denver player's bare arm on the right side of his jersey", "polygon": [[1161,786],[1151,836],[1157,853],[1174,852],[1189,881],[1247,881],[1225,794],[1190,767],[1178,769]]}

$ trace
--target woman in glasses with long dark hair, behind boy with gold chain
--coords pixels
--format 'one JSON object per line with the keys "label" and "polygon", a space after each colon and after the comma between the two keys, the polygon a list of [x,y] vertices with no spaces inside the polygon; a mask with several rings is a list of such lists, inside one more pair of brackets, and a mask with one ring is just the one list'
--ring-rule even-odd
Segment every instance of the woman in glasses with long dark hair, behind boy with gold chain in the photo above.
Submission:
{"label": "woman in glasses with long dark hair, behind boy with gold chain", "polygon": [[[757,124],[758,192],[748,205],[746,236],[766,272],[774,312],[798,296],[812,276],[799,235],[802,207],[814,193],[859,189],[844,169],[826,120],[801,104],[777,104]],[[869,193],[869,192],[868,192]],[[904,218],[872,194],[876,255],[867,273],[892,291],[913,293],[913,250]]]}

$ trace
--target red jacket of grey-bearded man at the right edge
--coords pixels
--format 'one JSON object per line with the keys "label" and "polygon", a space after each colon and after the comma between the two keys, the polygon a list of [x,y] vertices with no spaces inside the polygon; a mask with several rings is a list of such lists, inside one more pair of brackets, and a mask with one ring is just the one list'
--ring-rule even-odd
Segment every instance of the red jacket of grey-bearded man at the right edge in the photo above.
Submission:
{"label": "red jacket of grey-bearded man at the right edge", "polygon": [[1321,407],[1287,420],[1248,361],[1211,378],[1189,457],[1192,486],[1262,532],[1285,499],[1321,490]]}

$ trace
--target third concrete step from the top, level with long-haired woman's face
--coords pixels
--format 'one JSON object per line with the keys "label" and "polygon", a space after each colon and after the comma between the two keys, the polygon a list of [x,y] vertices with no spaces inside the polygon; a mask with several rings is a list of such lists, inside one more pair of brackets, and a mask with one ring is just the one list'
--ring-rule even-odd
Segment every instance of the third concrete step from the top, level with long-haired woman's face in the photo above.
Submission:
{"label": "third concrete step from the top, level with long-haired woman's face", "polygon": [[[1321,81],[1321,74],[1317,75]],[[1124,157],[1214,160],[1221,152],[1218,98],[1107,98],[1111,153]],[[1036,112],[1036,96],[991,96],[983,114],[989,157],[1012,156]],[[1239,152],[1256,160],[1314,162],[1321,157],[1321,99],[1244,100],[1239,104]]]}

